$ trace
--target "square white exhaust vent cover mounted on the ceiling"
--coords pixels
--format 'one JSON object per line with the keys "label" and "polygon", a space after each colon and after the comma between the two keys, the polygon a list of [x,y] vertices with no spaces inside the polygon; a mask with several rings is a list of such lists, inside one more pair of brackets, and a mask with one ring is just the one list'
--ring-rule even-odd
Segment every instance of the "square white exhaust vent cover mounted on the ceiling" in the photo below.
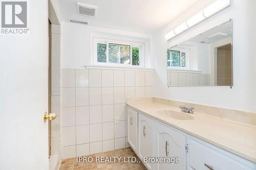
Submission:
{"label": "square white exhaust vent cover mounted on the ceiling", "polygon": [[77,11],[78,11],[78,14],[80,15],[96,16],[97,8],[98,7],[94,5],[77,3]]}

